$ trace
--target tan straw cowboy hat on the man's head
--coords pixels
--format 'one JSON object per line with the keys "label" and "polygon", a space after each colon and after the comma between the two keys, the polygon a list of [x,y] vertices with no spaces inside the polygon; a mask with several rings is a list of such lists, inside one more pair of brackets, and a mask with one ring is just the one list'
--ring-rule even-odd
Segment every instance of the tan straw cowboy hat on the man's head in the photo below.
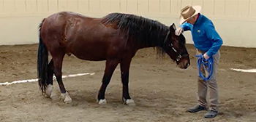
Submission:
{"label": "tan straw cowboy hat on the man's head", "polygon": [[181,9],[181,16],[180,16],[180,24],[184,23],[185,21],[189,20],[189,18],[197,15],[200,13],[202,7],[200,6],[187,6]]}

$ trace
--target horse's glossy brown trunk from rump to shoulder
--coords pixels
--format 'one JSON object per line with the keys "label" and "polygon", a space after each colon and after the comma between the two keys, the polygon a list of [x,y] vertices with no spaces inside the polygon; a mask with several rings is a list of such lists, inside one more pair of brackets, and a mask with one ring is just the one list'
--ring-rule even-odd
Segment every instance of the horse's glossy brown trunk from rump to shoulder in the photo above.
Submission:
{"label": "horse's glossy brown trunk from rump to shoulder", "polygon": [[48,49],[63,47],[65,53],[75,54],[84,60],[106,60],[123,49],[124,41],[115,28],[101,21],[102,18],[59,12],[42,23],[42,38],[48,41],[45,42]]}

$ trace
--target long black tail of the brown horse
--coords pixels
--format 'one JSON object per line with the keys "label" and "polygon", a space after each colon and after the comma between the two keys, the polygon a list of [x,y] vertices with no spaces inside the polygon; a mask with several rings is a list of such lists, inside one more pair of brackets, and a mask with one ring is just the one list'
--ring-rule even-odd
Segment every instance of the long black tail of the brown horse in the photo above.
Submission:
{"label": "long black tail of the brown horse", "polygon": [[[44,23],[45,19],[42,20]],[[42,42],[41,37],[41,28],[42,23],[39,25],[39,46],[37,52],[37,78],[42,94],[45,93],[45,88],[47,86],[48,80],[48,50],[46,49],[45,44]]]}

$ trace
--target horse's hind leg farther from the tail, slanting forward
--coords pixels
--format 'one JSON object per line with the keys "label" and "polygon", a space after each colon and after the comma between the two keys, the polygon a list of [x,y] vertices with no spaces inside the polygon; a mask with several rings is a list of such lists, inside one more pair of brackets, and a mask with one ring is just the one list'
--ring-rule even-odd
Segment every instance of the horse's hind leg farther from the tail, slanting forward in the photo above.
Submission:
{"label": "horse's hind leg farther from the tail, slanting forward", "polygon": [[65,89],[65,86],[62,82],[62,62],[63,62],[64,54],[57,55],[56,57],[53,57],[53,67],[54,67],[54,74],[56,76],[56,80],[58,81],[59,84],[59,89],[61,90],[61,99],[65,103],[70,103],[72,102],[72,99],[69,97],[68,92]]}

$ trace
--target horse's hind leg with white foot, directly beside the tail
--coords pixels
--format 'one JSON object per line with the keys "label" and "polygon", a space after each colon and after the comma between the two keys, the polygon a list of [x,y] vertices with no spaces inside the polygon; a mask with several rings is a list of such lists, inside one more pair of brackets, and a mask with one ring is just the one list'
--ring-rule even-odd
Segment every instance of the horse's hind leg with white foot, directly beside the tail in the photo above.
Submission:
{"label": "horse's hind leg with white foot, directly beside the tail", "polygon": [[53,60],[50,60],[48,64],[48,81],[47,87],[45,89],[46,97],[51,97],[51,93],[53,92]]}

